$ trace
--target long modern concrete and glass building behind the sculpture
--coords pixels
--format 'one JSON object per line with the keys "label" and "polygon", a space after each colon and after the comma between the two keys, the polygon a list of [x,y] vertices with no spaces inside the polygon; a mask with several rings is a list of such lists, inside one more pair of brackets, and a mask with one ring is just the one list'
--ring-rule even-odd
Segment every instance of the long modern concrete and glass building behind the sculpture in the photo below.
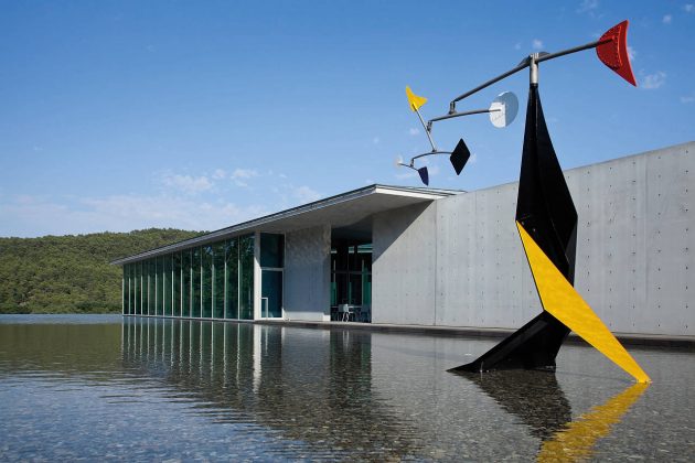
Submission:
{"label": "long modern concrete and glass building behind the sculpture", "polygon": [[[566,171],[575,287],[613,332],[695,336],[693,150]],[[542,310],[516,191],[371,185],[124,258],[124,314],[514,330]]]}

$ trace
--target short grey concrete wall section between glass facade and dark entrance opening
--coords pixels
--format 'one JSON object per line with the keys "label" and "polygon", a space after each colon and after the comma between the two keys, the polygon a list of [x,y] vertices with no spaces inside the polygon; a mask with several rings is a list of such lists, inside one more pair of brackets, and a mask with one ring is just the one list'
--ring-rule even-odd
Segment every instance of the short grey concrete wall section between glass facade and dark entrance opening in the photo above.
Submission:
{"label": "short grey concrete wall section between glass facade and dark entrance opening", "polygon": [[331,227],[285,235],[285,319],[330,320]]}

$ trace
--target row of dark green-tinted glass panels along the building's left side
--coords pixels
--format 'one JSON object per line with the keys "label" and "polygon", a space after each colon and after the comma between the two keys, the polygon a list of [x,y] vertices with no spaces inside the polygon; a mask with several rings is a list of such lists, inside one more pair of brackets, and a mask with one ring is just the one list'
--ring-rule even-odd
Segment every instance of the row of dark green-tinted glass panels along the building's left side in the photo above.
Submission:
{"label": "row of dark green-tinted glass panels along the building's left side", "polygon": [[[281,238],[270,239],[275,249],[264,259],[281,262]],[[255,246],[254,235],[245,235],[124,265],[124,313],[253,320]],[[279,308],[271,316],[281,316]]]}

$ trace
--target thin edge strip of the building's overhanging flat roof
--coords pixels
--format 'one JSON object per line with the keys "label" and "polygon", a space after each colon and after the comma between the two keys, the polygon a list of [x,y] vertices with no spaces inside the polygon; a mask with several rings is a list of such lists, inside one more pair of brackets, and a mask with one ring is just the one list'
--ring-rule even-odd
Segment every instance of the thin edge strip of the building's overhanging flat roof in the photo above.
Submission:
{"label": "thin edge strip of the building's overhanging flat roof", "polygon": [[356,200],[363,196],[368,196],[371,194],[376,193],[377,190],[393,190],[397,192],[414,193],[414,194],[418,194],[418,193],[428,194],[428,195],[440,196],[440,197],[464,193],[463,191],[460,191],[460,190],[438,190],[438,189],[421,189],[421,187],[374,184],[374,185],[364,186],[362,189],[352,190],[345,193],[336,194],[336,195],[333,195],[323,200],[314,201],[313,203],[302,204],[301,206],[291,207],[289,209],[285,209],[275,214],[269,214],[263,217],[253,218],[250,220],[232,225],[231,227],[221,228],[218,230],[211,232],[209,234],[205,234],[195,238],[190,238],[183,241],[173,243],[171,245],[150,249],[145,252],[127,256],[120,259],[113,260],[109,263],[113,266],[119,266],[124,263],[137,262],[142,259],[161,256],[161,255],[173,252],[177,250],[188,249],[193,246],[215,243],[220,240],[221,238],[232,238],[234,236],[244,235],[250,232],[253,228],[257,228],[261,225],[265,225],[271,222],[277,222],[284,218],[288,218],[298,214],[322,209],[324,207],[330,207],[330,206],[344,203],[348,201]]}

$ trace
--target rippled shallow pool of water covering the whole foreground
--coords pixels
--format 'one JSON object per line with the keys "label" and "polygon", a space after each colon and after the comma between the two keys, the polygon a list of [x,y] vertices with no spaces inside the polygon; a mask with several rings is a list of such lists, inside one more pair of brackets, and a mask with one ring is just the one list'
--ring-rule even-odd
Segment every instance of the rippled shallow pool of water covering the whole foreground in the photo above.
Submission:
{"label": "rippled shallow pool of water covering the whole foreground", "polygon": [[458,376],[495,340],[108,315],[0,316],[0,460],[695,456],[695,354],[592,348]]}

